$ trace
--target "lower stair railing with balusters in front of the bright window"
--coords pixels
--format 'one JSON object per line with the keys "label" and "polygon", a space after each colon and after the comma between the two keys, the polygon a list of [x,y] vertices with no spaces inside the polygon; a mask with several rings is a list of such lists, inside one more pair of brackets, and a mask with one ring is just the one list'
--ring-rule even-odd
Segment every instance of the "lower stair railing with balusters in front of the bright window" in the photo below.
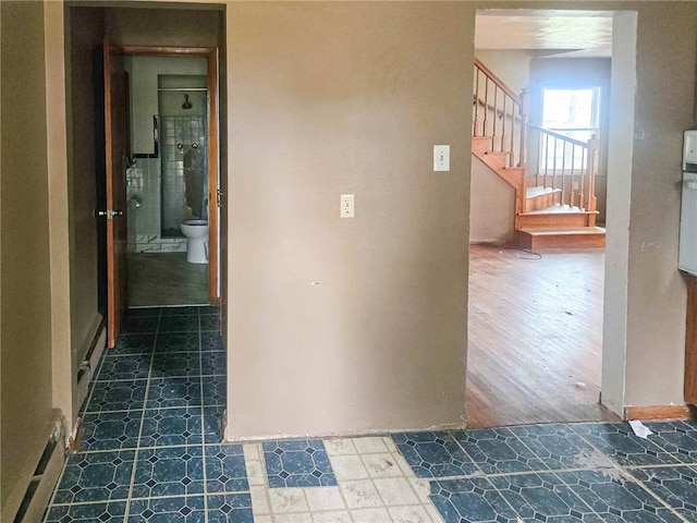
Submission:
{"label": "lower stair railing with balusters in front of the bright window", "polygon": [[[561,205],[595,211],[598,137],[583,142],[534,124],[528,131],[535,133],[531,142],[537,141],[538,149],[535,185],[559,190]],[[595,224],[595,217],[591,221]]]}

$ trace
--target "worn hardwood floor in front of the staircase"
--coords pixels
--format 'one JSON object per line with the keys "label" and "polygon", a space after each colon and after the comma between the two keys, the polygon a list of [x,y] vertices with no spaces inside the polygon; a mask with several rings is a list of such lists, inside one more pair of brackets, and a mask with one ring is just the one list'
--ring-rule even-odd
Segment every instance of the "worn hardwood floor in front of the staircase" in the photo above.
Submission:
{"label": "worn hardwood floor in front of the staircase", "polygon": [[467,426],[617,421],[600,406],[604,250],[473,245]]}

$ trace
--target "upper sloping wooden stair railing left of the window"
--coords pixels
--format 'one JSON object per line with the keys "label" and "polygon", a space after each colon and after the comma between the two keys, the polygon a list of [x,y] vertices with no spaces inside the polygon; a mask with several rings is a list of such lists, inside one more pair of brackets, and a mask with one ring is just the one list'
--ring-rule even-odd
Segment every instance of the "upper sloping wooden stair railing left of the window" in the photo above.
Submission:
{"label": "upper sloping wooden stair railing left of the window", "polygon": [[527,90],[516,95],[475,58],[473,136],[491,138],[491,151],[506,154],[506,167],[525,167]]}

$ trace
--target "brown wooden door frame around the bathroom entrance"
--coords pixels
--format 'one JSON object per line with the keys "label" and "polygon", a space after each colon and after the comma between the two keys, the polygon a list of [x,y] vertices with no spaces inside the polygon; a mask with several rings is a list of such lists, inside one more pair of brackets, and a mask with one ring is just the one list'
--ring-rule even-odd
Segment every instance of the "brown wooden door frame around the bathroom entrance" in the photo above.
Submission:
{"label": "brown wooden door frame around the bathroom entrance", "polygon": [[205,58],[208,71],[208,303],[218,305],[218,48],[120,46],[125,56]]}

